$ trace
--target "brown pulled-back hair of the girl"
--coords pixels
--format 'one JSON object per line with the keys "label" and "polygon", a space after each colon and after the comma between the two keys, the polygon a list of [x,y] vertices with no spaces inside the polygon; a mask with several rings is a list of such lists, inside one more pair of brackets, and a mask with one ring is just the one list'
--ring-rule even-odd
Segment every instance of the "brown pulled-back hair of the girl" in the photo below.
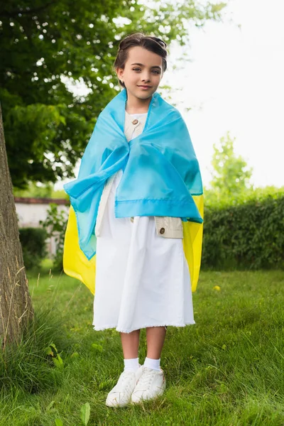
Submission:
{"label": "brown pulled-back hair of the girl", "polygon": [[[167,69],[167,55],[166,43],[158,37],[152,37],[151,35],[144,35],[142,33],[134,33],[127,35],[126,38],[121,40],[119,43],[119,51],[116,55],[116,60],[114,61],[114,68],[125,67],[125,62],[128,58],[129,49],[134,46],[141,46],[150,52],[156,53],[157,55],[163,58],[163,71]],[[122,87],[125,87],[124,82],[119,80],[119,84]]]}

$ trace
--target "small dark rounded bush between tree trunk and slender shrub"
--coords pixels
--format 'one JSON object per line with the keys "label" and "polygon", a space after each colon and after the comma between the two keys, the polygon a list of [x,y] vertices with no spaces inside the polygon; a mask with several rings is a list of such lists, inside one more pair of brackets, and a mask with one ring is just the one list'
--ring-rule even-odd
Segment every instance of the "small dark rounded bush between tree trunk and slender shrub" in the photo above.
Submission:
{"label": "small dark rounded bush between tree trunk and slender shrub", "polygon": [[26,268],[40,266],[40,262],[47,254],[45,245],[47,232],[43,228],[21,228],[19,231]]}

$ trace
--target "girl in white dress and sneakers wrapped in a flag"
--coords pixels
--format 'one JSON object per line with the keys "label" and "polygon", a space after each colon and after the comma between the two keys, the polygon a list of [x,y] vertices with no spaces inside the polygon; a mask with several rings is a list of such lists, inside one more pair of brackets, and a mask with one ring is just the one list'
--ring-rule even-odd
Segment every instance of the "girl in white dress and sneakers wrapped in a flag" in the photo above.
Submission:
{"label": "girl in white dress and sneakers wrapped in a flag", "polygon": [[124,371],[107,395],[112,407],[165,389],[166,326],[195,324],[203,222],[190,135],[177,109],[156,93],[167,68],[166,44],[129,35],[114,66],[124,89],[99,115],[78,179],[65,185],[72,207],[64,253],[65,272],[92,293],[95,276],[94,329],[121,334]]}

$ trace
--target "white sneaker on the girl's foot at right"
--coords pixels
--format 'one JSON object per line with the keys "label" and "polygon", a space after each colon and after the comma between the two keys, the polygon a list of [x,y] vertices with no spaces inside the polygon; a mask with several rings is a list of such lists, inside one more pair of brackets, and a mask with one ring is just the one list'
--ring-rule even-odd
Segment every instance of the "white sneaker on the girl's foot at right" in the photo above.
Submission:
{"label": "white sneaker on the girl's foot at right", "polygon": [[165,376],[163,370],[153,370],[142,366],[141,378],[131,395],[133,403],[140,403],[142,400],[150,400],[165,391]]}

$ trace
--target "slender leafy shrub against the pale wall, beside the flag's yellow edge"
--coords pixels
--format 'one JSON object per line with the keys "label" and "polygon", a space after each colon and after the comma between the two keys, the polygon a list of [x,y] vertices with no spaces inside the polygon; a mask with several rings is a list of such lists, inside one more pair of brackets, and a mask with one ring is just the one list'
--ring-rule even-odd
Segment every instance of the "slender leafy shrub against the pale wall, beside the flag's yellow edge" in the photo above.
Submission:
{"label": "slender leafy shrub against the pale wall, beside the flag's yellow edge", "polygon": [[55,237],[56,253],[53,268],[55,271],[62,271],[64,237],[67,226],[67,214],[64,210],[58,209],[57,204],[50,204],[48,216],[45,221],[40,221],[43,229],[47,231],[49,237]]}

